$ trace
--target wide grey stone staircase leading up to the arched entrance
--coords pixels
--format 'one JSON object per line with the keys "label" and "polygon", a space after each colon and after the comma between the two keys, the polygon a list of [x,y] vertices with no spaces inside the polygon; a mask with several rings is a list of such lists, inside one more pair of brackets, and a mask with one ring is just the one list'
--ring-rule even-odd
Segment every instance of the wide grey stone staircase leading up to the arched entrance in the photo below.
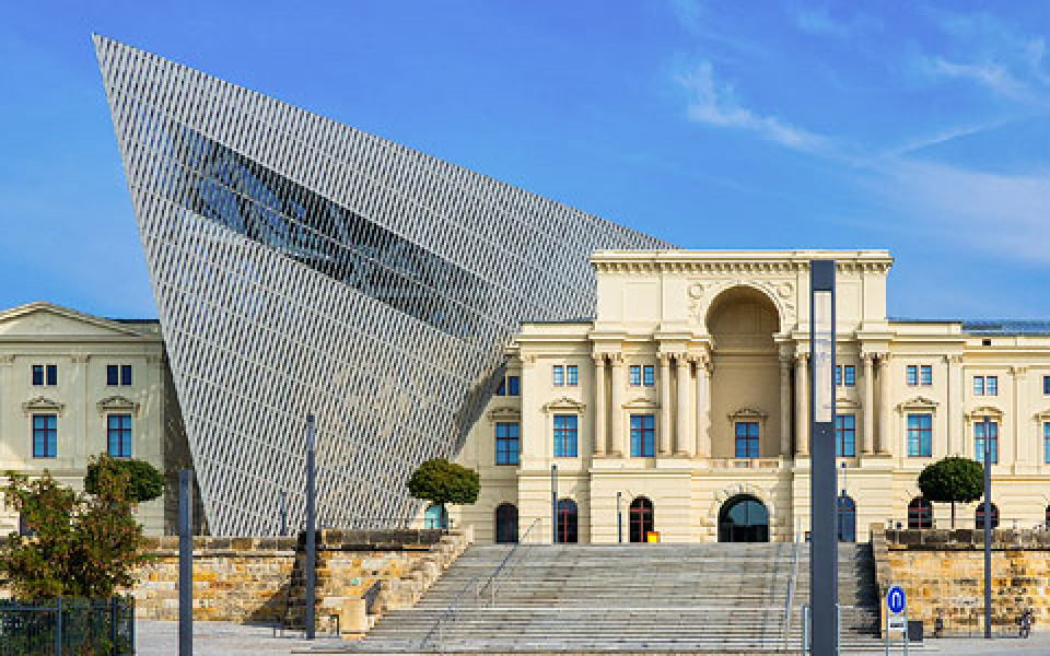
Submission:
{"label": "wide grey stone staircase leading up to the arched entrance", "polygon": [[[775,652],[785,635],[798,648],[808,546],[798,550],[786,633],[794,544],[521,544],[490,586],[511,549],[470,547],[415,608],[390,611],[355,649]],[[880,644],[876,596],[871,547],[841,544],[844,645]]]}

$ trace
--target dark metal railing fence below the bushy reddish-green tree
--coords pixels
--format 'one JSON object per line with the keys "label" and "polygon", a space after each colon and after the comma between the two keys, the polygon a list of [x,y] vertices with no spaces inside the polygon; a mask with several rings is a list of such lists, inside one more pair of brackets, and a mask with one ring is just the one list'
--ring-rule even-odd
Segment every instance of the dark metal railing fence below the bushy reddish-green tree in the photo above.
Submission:
{"label": "dark metal railing fence below the bushy reddish-green tree", "polygon": [[0,599],[0,656],[135,654],[135,599]]}

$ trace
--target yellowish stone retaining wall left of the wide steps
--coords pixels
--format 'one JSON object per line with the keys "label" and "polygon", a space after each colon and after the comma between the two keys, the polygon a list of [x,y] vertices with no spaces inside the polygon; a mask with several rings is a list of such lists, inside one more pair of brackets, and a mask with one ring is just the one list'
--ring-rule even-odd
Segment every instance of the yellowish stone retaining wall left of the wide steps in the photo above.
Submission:
{"label": "yellowish stone retaining wall left of the wide steps", "polygon": [[[413,605],[467,548],[472,531],[319,531],[318,630],[362,635],[388,608]],[[303,539],[194,538],[194,618],[302,626]],[[178,538],[150,540],[154,563],[138,573],[132,594],[140,618],[178,619]],[[366,613],[364,594],[381,591]]]}

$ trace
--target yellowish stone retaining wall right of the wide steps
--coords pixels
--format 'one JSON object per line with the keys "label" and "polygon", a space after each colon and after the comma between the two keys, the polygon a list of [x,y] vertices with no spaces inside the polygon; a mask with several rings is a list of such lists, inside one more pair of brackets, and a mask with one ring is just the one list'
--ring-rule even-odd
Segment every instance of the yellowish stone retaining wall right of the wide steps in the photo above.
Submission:
{"label": "yellowish stone retaining wall right of the wide steps", "polygon": [[[992,539],[992,626],[1016,631],[1025,608],[1035,629],[1050,622],[1050,532],[994,530]],[[879,597],[896,584],[908,595],[909,619],[933,631],[937,611],[948,631],[983,631],[984,531],[973,529],[886,529],[872,525]],[[882,613],[886,612],[880,602]],[[880,617],[885,625],[885,617]]]}

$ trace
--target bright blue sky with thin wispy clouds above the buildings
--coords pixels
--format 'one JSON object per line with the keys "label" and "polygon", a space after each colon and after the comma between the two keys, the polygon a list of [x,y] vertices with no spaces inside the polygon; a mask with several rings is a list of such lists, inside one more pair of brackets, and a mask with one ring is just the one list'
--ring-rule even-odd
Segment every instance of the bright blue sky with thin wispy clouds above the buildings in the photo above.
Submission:
{"label": "bright blue sky with thin wispy clouds above the buildings", "polygon": [[155,308],[98,32],[688,248],[889,248],[1050,318],[1045,2],[0,4],[0,307]]}

